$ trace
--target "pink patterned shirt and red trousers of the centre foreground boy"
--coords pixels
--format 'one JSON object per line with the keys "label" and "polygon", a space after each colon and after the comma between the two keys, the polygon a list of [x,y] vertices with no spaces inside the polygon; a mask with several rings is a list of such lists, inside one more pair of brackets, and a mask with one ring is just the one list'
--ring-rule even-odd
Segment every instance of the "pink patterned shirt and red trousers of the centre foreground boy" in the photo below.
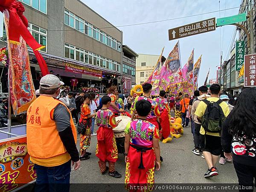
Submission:
{"label": "pink patterned shirt and red trousers of the centre foreground boy", "polygon": [[[130,134],[130,147],[125,171],[125,185],[154,183],[155,154],[153,138],[158,139],[156,126],[143,119],[128,123],[125,134]],[[132,185],[131,185],[132,186]]]}

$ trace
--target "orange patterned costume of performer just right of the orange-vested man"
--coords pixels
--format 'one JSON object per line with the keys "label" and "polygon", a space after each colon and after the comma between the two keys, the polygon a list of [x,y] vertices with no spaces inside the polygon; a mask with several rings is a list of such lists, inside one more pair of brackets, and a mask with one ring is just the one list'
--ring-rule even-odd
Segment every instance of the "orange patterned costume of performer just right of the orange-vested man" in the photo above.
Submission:
{"label": "orange patterned costume of performer just right of the orange-vested man", "polygon": [[83,152],[83,150],[86,150],[90,147],[90,139],[92,134],[92,119],[87,118],[90,113],[91,111],[89,105],[83,103],[81,105],[81,117],[79,119],[79,123],[85,125],[86,129],[84,135],[80,134],[80,154]]}

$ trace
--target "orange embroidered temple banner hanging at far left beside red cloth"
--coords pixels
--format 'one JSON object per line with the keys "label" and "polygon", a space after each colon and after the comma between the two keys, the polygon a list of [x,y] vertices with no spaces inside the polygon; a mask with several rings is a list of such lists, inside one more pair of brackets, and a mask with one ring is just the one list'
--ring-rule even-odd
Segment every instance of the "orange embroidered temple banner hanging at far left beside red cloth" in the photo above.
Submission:
{"label": "orange embroidered temple banner hanging at far left beside red cloth", "polygon": [[[9,41],[9,12],[4,11],[7,40]],[[22,36],[20,43],[8,43],[9,79],[12,109],[15,115],[24,113],[36,99],[27,44]]]}

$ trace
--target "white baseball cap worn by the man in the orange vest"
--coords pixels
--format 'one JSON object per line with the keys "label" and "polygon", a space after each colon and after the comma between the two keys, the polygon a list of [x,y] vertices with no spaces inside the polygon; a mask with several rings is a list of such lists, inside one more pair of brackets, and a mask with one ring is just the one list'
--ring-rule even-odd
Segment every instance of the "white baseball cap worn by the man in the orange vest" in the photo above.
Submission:
{"label": "white baseball cap worn by the man in the orange vest", "polygon": [[64,82],[60,81],[57,76],[52,74],[43,76],[40,80],[40,87],[43,89],[55,89],[63,84]]}

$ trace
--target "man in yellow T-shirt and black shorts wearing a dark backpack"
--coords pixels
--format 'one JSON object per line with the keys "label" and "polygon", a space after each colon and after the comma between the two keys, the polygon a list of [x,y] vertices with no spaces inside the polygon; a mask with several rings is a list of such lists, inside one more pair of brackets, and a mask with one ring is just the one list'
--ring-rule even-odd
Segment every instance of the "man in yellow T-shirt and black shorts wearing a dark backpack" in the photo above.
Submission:
{"label": "man in yellow T-shirt and black shorts wearing a dark backpack", "polygon": [[216,163],[221,154],[221,129],[225,118],[230,113],[228,105],[218,98],[221,91],[219,84],[212,84],[210,87],[211,97],[202,100],[198,104],[195,116],[202,123],[200,134],[205,136],[204,157],[208,165],[208,170],[204,177],[218,175]]}

